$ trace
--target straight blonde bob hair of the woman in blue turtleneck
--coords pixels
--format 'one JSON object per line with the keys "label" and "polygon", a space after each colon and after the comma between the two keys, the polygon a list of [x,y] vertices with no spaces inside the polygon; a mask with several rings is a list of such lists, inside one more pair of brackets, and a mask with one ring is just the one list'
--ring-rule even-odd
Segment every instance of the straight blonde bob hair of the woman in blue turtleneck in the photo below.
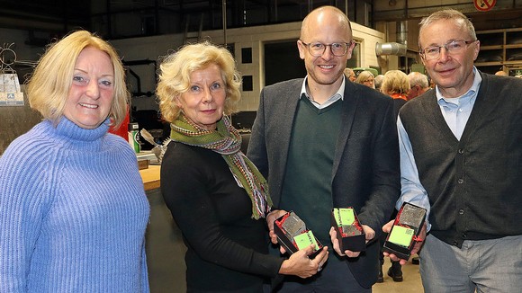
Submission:
{"label": "straight blonde bob hair of the woman in blue turtleneck", "polygon": [[115,127],[127,114],[129,92],[125,84],[125,70],[112,46],[89,31],[74,31],[49,45],[34,69],[28,84],[27,96],[31,108],[54,124],[63,116],[73,81],[76,59],[83,49],[90,47],[105,52],[114,69],[114,96],[109,117]]}

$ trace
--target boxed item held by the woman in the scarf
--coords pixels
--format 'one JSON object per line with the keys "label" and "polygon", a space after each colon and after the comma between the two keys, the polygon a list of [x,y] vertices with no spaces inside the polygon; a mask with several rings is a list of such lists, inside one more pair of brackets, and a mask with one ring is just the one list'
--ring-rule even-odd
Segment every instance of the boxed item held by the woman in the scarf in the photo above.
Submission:
{"label": "boxed item held by the woman in the scarf", "polygon": [[287,253],[297,253],[310,244],[315,244],[315,251],[309,257],[313,259],[322,249],[322,244],[313,235],[306,224],[293,211],[289,211],[274,221],[277,242],[283,245]]}

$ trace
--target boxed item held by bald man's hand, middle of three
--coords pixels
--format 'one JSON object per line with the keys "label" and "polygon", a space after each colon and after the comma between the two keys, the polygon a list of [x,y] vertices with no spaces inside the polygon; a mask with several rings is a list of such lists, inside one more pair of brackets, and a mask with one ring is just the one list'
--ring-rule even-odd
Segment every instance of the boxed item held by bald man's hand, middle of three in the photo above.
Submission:
{"label": "boxed item held by bald man's hand, middle of three", "polygon": [[346,250],[364,252],[366,250],[365,232],[355,209],[351,207],[332,209],[331,226],[337,231],[341,252]]}

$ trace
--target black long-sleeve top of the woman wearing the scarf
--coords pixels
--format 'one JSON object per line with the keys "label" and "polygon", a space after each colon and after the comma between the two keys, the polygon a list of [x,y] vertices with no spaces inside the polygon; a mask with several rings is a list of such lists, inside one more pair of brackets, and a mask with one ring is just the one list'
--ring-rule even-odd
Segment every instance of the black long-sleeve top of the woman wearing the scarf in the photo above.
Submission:
{"label": "black long-sleeve top of the woman wearing the scarf", "polygon": [[252,201],[220,154],[171,142],[161,191],[184,235],[189,291],[259,292],[277,276],[284,259],[267,254],[266,220],[252,218]]}

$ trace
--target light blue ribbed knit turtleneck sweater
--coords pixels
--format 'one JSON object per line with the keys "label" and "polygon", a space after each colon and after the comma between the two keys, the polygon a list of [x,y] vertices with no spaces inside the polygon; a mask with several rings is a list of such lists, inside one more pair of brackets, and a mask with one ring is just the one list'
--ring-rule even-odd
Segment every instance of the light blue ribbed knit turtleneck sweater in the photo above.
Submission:
{"label": "light blue ribbed knit turtleneck sweater", "polygon": [[149,206],[107,121],[42,121],[0,158],[0,292],[148,292]]}

